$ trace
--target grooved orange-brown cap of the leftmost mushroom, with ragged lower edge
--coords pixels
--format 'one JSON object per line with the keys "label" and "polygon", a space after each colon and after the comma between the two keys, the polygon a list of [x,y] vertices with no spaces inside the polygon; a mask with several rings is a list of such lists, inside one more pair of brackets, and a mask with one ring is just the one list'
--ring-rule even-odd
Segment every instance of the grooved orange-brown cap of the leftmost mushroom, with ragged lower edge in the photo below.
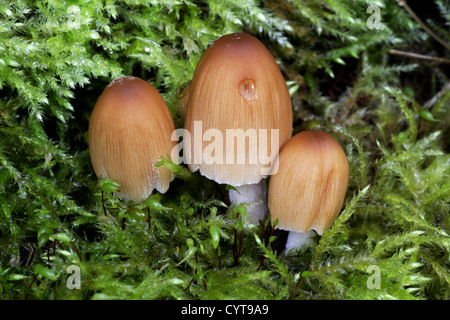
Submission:
{"label": "grooved orange-brown cap of the leftmost mushroom, with ragged lower edge", "polygon": [[176,146],[172,116],[159,92],[135,77],[112,81],[100,95],[89,121],[89,151],[99,178],[120,184],[120,197],[145,200],[156,188],[164,193],[172,174],[161,158]]}

